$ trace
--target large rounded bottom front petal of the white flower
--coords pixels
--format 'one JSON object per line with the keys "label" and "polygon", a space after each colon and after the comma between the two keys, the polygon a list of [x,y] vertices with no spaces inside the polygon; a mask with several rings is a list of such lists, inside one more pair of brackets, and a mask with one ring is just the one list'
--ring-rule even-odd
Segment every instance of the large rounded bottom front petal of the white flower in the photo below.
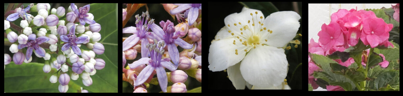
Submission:
{"label": "large rounded bottom front petal of the white flower", "polygon": [[241,74],[251,85],[278,86],[287,76],[287,58],[284,49],[259,46],[251,49],[241,62]]}

